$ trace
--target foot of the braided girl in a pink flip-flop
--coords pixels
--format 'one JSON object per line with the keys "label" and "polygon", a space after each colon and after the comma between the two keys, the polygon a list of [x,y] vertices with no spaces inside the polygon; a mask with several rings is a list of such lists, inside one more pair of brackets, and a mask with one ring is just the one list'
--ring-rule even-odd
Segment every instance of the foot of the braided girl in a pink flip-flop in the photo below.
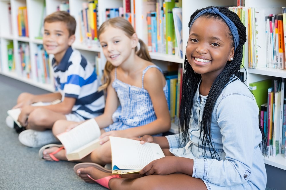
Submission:
{"label": "foot of the braided girl in a pink flip-flop", "polygon": [[80,168],[76,172],[80,178],[82,178],[85,182],[88,183],[96,183],[94,180],[112,175],[112,173],[100,171],[99,169],[92,166]]}

